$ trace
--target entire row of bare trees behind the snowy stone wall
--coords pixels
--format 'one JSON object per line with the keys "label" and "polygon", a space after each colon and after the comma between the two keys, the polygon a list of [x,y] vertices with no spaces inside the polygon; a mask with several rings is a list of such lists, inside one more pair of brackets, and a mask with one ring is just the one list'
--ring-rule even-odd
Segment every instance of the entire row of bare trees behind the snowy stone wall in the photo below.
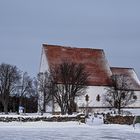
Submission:
{"label": "entire row of bare trees behind the snowy stone wall", "polygon": [[[88,86],[89,73],[83,64],[64,61],[52,65],[49,71],[39,73],[37,78],[30,78],[16,66],[2,63],[0,65],[0,103],[8,113],[11,97],[18,98],[18,105],[23,106],[23,99],[34,97],[42,101],[40,110],[45,112],[47,104],[57,104],[61,114],[76,112],[76,97],[84,95]],[[137,100],[134,90],[130,89],[130,80],[126,75],[112,75],[112,86],[106,89],[105,102],[118,109]],[[100,101],[100,96],[97,97]],[[39,103],[40,105],[40,103]],[[38,107],[39,107],[38,105]],[[54,109],[54,107],[52,107]],[[52,110],[53,111],[53,110]]]}

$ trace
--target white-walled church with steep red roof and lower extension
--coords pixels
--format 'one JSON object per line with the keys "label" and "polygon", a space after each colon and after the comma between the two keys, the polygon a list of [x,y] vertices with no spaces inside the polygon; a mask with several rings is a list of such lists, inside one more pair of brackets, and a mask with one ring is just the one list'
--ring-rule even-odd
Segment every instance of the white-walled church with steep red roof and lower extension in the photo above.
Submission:
{"label": "white-walled church with steep red roof and lower extension", "polygon": [[[85,94],[89,96],[88,108],[90,111],[108,107],[103,97],[106,93],[106,88],[111,86],[110,77],[114,74],[125,74],[129,77],[130,88],[137,95],[137,101],[129,107],[140,108],[140,81],[133,68],[110,67],[102,49],[43,44],[39,72],[44,73],[49,70],[51,65],[60,64],[65,59],[84,64],[86,71],[90,73],[89,85]],[[80,111],[87,106],[85,95],[76,99]],[[97,96],[100,97],[100,100],[97,100]],[[55,106],[55,111],[59,110],[59,107]],[[50,111],[51,107],[46,106],[46,112]]]}

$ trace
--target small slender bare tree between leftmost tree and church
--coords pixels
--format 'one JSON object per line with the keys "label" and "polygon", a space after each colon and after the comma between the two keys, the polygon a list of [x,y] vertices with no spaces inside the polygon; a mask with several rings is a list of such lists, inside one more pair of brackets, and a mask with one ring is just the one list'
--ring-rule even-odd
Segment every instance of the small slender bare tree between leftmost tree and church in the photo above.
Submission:
{"label": "small slender bare tree between leftmost tree and church", "polygon": [[22,99],[30,97],[33,93],[32,79],[27,72],[22,74],[20,82],[17,85],[16,95],[19,97],[19,106],[23,106]]}

